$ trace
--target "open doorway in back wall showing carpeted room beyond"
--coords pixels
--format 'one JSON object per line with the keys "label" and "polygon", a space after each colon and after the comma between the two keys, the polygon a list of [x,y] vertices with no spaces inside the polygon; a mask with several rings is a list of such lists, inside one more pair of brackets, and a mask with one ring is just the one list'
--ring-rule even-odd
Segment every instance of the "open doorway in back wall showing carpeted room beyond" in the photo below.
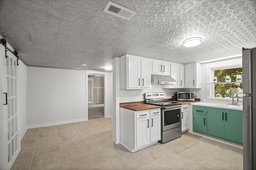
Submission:
{"label": "open doorway in back wall showing carpeted room beyond", "polygon": [[104,117],[104,74],[88,73],[88,119]]}

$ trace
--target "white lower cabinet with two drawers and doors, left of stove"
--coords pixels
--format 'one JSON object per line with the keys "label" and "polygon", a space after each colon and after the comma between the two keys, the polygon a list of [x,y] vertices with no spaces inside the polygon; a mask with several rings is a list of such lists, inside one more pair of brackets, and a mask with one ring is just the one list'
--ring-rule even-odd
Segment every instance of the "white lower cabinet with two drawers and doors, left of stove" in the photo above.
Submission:
{"label": "white lower cabinet with two drawers and doors, left of stove", "polygon": [[161,139],[160,109],[132,111],[120,107],[120,143],[131,152]]}

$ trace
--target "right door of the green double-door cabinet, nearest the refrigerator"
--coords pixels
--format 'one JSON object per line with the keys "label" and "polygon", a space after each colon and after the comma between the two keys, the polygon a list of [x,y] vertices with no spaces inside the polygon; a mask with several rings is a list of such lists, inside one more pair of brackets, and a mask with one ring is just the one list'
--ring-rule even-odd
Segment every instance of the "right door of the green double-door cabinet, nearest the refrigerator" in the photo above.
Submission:
{"label": "right door of the green double-door cabinet, nearest the refrigerator", "polygon": [[225,109],[226,139],[243,143],[242,111]]}

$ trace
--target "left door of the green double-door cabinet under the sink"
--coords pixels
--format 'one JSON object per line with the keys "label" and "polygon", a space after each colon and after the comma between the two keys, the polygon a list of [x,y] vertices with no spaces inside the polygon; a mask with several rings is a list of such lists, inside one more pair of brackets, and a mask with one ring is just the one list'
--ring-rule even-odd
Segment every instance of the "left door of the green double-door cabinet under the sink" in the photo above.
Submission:
{"label": "left door of the green double-door cabinet under the sink", "polygon": [[207,129],[208,134],[225,138],[225,110],[207,107]]}

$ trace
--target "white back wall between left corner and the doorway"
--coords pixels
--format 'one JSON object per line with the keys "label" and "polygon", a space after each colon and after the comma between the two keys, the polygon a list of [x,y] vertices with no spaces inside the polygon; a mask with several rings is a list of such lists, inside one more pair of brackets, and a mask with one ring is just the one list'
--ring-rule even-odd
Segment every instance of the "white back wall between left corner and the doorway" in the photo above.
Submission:
{"label": "white back wall between left corner and the doorway", "polygon": [[86,120],[85,71],[29,66],[27,80],[28,127]]}

